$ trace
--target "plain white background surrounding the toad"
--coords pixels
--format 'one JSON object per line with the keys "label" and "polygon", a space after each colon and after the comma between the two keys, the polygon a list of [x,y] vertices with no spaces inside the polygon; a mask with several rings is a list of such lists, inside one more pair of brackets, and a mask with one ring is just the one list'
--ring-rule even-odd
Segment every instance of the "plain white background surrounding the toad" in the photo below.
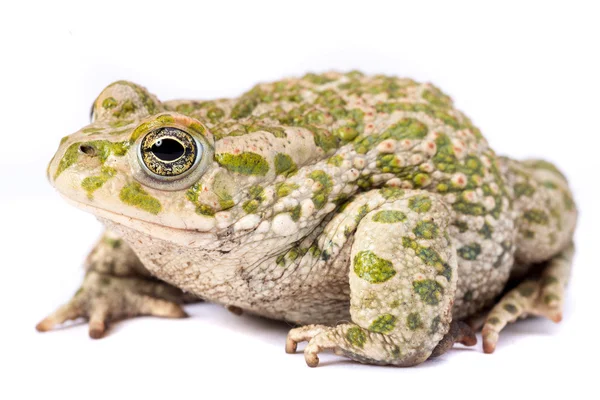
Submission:
{"label": "plain white background surrounding the toad", "polygon": [[[0,398],[597,395],[593,2],[10,3],[0,6]],[[560,325],[519,322],[494,355],[458,348],[412,369],[333,355],[309,369],[301,353],[284,353],[286,324],[207,304],[188,307],[187,320],[116,324],[100,341],[85,325],[35,332],[78,287],[101,232],[51,189],[45,167],[60,138],[88,123],[104,86],[128,79],[161,99],[214,98],[258,81],[355,68],[432,81],[498,153],[544,157],[566,172],[581,215]]]}

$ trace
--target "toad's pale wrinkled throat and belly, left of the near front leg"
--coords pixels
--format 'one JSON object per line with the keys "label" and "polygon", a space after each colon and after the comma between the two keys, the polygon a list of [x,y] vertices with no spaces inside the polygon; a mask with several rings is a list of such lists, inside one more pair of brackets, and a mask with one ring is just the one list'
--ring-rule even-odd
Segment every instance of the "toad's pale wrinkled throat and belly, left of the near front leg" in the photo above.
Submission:
{"label": "toad's pale wrinkled throat and belly, left of the near front leg", "polygon": [[273,257],[249,262],[247,247],[217,254],[103,222],[131,246],[154,276],[207,301],[298,324],[350,320],[350,246],[326,264],[282,268]]}

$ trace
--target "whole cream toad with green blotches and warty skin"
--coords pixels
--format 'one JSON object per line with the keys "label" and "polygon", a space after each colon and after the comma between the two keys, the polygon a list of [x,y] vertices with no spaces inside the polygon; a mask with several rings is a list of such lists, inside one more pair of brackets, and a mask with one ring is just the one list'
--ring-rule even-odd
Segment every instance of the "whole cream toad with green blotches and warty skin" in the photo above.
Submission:
{"label": "whole cream toad with green blotches and warty skin", "polygon": [[[161,159],[155,138],[186,155]],[[458,321],[544,261],[482,320],[484,350],[521,315],[560,319],[577,215],[566,180],[497,157],[431,84],[308,74],[161,103],[116,82],[48,176],[108,231],[42,331],[85,316],[100,337],[109,320],[181,317],[201,298],[306,325],[286,350],[308,341],[310,366],[326,349],[409,366],[474,344]]]}

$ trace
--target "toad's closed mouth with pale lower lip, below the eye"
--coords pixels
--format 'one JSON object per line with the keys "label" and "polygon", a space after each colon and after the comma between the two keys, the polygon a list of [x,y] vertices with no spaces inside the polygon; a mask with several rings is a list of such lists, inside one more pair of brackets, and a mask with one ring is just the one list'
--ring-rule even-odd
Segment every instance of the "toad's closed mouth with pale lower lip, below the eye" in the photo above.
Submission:
{"label": "toad's closed mouth with pale lower lip, below the eye", "polygon": [[[62,195],[62,194],[61,194]],[[186,247],[201,247],[210,249],[218,246],[219,240],[215,232],[203,232],[197,229],[174,228],[155,222],[145,221],[128,215],[109,211],[87,203],[73,200],[65,195],[62,197],[71,205],[95,215],[108,228],[125,236],[131,230]]]}

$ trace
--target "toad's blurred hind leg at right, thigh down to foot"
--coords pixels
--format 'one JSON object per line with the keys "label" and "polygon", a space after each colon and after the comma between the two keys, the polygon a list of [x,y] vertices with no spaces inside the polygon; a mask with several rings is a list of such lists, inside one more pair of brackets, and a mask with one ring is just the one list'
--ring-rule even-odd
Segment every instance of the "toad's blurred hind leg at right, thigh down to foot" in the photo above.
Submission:
{"label": "toad's blurred hind leg at right, thigh down to foot", "polygon": [[486,353],[495,350],[506,324],[518,318],[540,315],[555,322],[561,320],[577,220],[566,178],[554,165],[508,158],[502,158],[501,165],[514,193],[517,213],[516,267],[512,275],[523,281],[489,313],[482,331]]}

